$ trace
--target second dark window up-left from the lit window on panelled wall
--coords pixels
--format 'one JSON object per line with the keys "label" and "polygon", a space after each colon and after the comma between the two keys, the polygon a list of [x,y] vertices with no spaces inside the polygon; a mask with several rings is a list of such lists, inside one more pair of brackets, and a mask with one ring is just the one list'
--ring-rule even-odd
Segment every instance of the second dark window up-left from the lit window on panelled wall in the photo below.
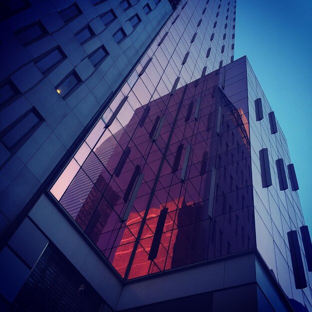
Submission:
{"label": "second dark window up-left from the lit window on panelled wall", "polygon": [[17,39],[23,44],[28,46],[48,35],[48,31],[40,21],[31,25],[25,26],[15,32]]}

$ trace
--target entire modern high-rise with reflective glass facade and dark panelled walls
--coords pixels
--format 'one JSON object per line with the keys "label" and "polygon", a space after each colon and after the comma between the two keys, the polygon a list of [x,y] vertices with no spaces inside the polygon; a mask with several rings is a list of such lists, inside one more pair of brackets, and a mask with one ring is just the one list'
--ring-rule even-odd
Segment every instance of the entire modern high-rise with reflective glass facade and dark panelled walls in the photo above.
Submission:
{"label": "entire modern high-rise with reflective glass facade and dark panelled walls", "polygon": [[236,0],[45,4],[2,5],[2,59],[24,57],[2,65],[3,309],[312,311],[295,167],[234,61]]}

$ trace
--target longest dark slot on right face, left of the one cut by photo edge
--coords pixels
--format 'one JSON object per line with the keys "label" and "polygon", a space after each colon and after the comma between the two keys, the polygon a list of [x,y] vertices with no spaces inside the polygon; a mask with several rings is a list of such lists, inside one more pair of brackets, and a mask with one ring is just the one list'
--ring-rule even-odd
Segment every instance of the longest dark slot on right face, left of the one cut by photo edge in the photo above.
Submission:
{"label": "longest dark slot on right face, left of the one cut by photo edge", "polygon": [[307,287],[307,280],[304,264],[302,261],[297,231],[289,231],[287,233],[287,236],[291,253],[296,289],[304,289]]}

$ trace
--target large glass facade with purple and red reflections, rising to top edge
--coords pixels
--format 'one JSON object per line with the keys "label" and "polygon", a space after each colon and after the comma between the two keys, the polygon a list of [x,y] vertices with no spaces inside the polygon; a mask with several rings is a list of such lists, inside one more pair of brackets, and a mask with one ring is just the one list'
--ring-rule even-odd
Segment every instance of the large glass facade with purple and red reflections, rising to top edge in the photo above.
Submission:
{"label": "large glass facade with purple and red reflections, rising to top edge", "polygon": [[[224,86],[218,87],[224,71],[205,76],[220,62],[229,63],[233,52],[232,32],[227,29],[227,39],[221,38],[228,14],[234,16],[234,3],[219,4],[178,5],[51,189],[123,278],[255,247],[247,208],[247,102],[237,109],[228,98],[231,91],[226,95]],[[207,40],[213,32],[215,40]],[[246,83],[239,88],[247,94]],[[225,114],[226,105],[231,115]],[[225,123],[227,133],[232,133],[230,144],[218,137]],[[234,145],[236,150],[230,152]],[[239,157],[246,159],[246,166],[235,169],[225,187],[216,172]],[[248,167],[247,179],[237,181]],[[209,196],[214,197],[214,185],[212,211]],[[236,213],[235,200],[246,209]],[[226,201],[233,210],[227,217],[231,233],[223,224],[229,213]],[[232,234],[246,236],[242,246],[230,238]],[[208,250],[209,240],[217,248]]]}

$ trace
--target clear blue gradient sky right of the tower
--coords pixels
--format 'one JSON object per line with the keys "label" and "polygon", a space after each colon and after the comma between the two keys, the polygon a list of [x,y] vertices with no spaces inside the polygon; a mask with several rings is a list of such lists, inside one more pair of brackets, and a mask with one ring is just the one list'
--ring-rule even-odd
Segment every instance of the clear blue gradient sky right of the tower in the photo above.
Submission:
{"label": "clear blue gradient sky right of the tower", "polygon": [[237,0],[235,59],[243,55],[287,139],[312,235],[312,0]]}

